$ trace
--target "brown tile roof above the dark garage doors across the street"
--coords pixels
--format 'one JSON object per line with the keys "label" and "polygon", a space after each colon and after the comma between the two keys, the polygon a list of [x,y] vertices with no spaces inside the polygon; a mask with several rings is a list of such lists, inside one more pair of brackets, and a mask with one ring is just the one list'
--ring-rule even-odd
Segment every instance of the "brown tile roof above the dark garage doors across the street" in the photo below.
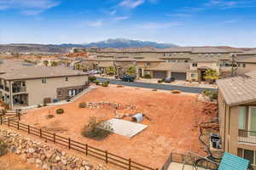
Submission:
{"label": "brown tile roof above the dark garage doors across the street", "polygon": [[177,71],[185,72],[189,71],[189,63],[160,63],[155,67],[150,67],[148,71]]}

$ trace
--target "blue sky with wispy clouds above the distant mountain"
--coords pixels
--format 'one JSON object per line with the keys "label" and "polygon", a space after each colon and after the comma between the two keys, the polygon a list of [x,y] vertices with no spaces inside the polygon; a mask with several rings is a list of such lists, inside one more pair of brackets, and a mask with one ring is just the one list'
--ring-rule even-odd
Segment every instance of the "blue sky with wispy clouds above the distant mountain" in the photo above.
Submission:
{"label": "blue sky with wispy clouds above the distant mountain", "polygon": [[0,0],[0,43],[256,47],[256,0]]}

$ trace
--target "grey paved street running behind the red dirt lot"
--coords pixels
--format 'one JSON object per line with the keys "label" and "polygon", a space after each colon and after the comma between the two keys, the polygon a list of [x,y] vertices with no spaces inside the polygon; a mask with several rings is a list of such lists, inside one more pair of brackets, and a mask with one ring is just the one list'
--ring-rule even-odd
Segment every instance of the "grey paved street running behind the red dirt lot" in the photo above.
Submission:
{"label": "grey paved street running behind the red dirt lot", "polygon": [[108,81],[111,84],[124,85],[124,86],[130,86],[130,87],[156,88],[160,90],[180,90],[182,92],[193,93],[193,94],[201,94],[201,92],[203,92],[204,90],[212,90],[212,91],[217,90],[215,88],[193,88],[193,87],[166,85],[166,84],[155,84],[155,83],[148,83],[148,82],[121,82],[119,80],[102,78],[102,77],[97,77],[97,80],[102,82]]}

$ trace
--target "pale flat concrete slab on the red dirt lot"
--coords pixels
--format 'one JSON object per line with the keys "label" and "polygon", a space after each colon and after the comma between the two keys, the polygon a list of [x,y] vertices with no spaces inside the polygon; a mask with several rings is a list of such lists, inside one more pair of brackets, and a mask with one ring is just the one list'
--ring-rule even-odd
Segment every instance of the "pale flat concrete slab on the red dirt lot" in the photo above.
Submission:
{"label": "pale flat concrete slab on the red dirt lot", "polygon": [[137,133],[142,132],[148,125],[143,125],[137,122],[129,122],[122,119],[110,119],[108,121],[113,127],[113,133],[132,138]]}

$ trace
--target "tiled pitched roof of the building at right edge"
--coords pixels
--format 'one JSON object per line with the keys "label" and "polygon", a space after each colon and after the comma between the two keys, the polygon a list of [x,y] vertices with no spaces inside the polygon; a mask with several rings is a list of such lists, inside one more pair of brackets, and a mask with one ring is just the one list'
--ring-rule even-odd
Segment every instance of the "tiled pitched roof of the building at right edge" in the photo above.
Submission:
{"label": "tiled pitched roof of the building at right edge", "polygon": [[217,84],[227,105],[256,100],[256,71],[248,72],[244,76],[220,79]]}

